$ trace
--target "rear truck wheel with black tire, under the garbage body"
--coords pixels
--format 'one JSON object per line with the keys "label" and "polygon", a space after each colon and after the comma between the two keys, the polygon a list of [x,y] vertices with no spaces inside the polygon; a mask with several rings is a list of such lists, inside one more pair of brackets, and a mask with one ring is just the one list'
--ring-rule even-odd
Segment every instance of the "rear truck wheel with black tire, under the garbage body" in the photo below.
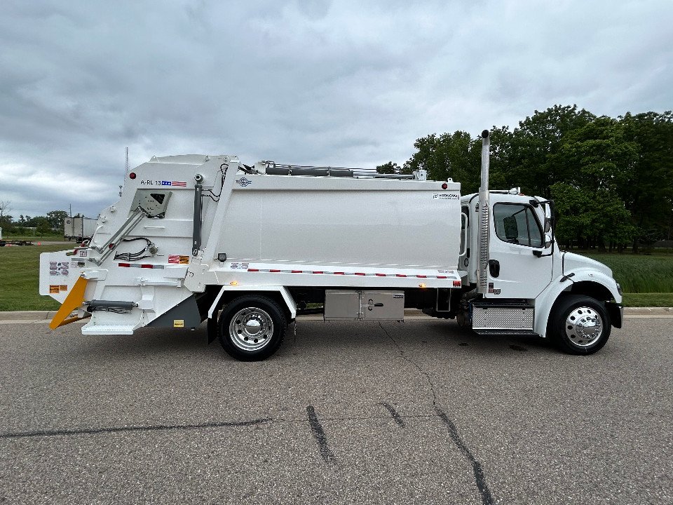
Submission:
{"label": "rear truck wheel with black tire, under the garbage body", "polygon": [[271,298],[245,295],[233,299],[219,316],[219,343],[239,361],[261,361],[283,342],[287,318]]}

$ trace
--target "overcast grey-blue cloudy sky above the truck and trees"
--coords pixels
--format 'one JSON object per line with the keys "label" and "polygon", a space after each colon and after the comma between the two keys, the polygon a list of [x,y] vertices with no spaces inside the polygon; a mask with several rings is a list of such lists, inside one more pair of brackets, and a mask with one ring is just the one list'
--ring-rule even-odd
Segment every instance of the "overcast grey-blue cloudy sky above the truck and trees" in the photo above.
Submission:
{"label": "overcast grey-blue cloudy sky above the truck and trees", "polygon": [[555,104],[673,108],[673,1],[3,0],[0,201],[95,217],[154,154],[374,167]]}

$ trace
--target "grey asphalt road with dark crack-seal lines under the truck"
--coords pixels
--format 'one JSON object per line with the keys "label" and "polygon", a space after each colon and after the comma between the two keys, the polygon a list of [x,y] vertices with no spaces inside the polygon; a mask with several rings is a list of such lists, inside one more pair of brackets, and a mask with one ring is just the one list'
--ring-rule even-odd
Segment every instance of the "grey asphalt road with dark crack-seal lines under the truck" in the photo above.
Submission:
{"label": "grey asphalt road with dark crack-seal lines under the truck", "polygon": [[300,321],[239,363],[205,332],[0,325],[0,502],[673,502],[673,320],[599,354],[452,321]]}

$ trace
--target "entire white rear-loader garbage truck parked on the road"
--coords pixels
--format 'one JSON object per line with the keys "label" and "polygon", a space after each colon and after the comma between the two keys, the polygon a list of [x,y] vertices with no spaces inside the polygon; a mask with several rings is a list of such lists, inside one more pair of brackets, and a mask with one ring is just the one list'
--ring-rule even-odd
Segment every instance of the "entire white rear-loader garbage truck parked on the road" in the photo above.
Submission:
{"label": "entire white rear-loader garbage truck parked on the road", "polygon": [[591,354],[623,319],[604,264],[559,251],[553,203],[452,180],[234,156],[154,157],[132,170],[86,248],[43,253],[52,328],[85,335],[207,321],[234,358],[271,356],[307,307],[325,321],[402,321],[405,307],[488,335]]}

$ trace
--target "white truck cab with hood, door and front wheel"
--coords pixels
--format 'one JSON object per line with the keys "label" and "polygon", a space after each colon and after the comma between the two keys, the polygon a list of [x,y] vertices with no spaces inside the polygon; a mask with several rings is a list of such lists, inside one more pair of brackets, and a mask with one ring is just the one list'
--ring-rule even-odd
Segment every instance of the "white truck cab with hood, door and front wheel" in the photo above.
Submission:
{"label": "white truck cab with hood, door and front wheel", "polygon": [[[461,198],[466,247],[459,264],[475,297],[463,302],[461,324],[482,334],[551,337],[565,351],[589,354],[610,326],[621,327],[621,290],[612,271],[566,253],[553,235],[553,203],[518,188],[489,192],[486,289],[479,276],[479,194]],[[476,317],[475,317],[476,316]]]}

